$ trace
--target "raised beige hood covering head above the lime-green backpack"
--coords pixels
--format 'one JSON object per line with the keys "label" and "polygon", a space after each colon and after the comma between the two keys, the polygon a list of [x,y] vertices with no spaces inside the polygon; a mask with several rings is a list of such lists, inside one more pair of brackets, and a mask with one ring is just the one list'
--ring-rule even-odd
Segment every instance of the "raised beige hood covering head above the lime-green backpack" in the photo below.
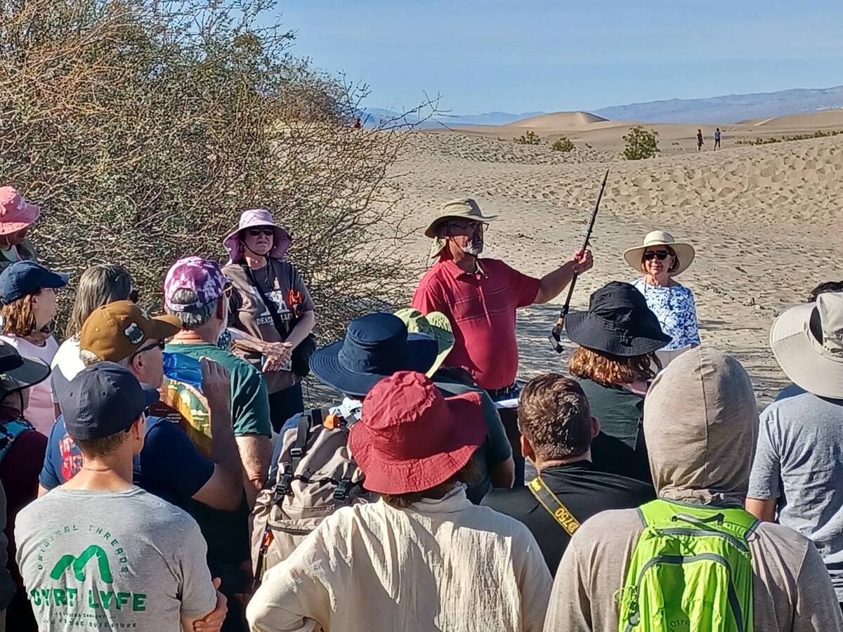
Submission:
{"label": "raised beige hood covering head above the lime-green backpack", "polygon": [[744,505],[758,411],[749,375],[732,356],[695,347],[659,373],[644,400],[656,493],[670,501]]}

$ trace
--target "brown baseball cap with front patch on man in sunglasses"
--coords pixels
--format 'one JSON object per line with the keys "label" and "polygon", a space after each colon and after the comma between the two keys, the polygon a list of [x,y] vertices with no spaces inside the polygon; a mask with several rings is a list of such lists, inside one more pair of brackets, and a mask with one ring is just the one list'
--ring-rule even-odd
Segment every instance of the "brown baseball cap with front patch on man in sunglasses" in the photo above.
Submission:
{"label": "brown baseball cap with front patch on man in sunglasses", "polygon": [[176,316],[150,319],[132,301],[115,301],[94,309],[79,334],[79,349],[90,351],[101,361],[120,362],[148,345],[164,340],[181,329]]}

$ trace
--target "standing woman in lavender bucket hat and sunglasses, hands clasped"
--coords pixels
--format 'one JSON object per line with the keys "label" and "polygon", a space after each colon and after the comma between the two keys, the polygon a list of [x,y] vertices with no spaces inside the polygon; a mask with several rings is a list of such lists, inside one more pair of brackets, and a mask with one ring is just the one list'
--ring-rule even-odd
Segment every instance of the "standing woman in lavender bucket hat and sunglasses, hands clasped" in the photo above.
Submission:
{"label": "standing woman in lavender bucket hat and sunglasses, hands clasped", "polygon": [[315,349],[310,293],[296,267],[283,260],[291,242],[264,209],[244,211],[223,239],[230,257],[223,274],[234,286],[228,330],[234,352],[266,378],[275,431],[304,410],[301,380]]}

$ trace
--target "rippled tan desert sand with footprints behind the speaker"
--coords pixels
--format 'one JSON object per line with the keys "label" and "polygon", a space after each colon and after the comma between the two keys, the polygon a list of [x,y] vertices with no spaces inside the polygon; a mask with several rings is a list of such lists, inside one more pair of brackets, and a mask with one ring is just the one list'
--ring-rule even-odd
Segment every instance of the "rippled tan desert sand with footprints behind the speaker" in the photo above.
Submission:
{"label": "rippled tan desert sand with footprints behind the speaker", "polygon": [[[706,126],[707,151],[681,147],[684,152],[640,161],[620,157],[629,122],[548,116],[538,121],[546,126],[534,120],[529,128],[515,123],[493,131],[413,132],[394,175],[403,192],[397,212],[411,213],[420,227],[406,243],[419,276],[429,245],[422,227],[439,204],[459,196],[475,197],[484,211],[500,216],[486,233],[484,256],[535,276],[550,271],[582,244],[609,169],[592,241],[595,266],[578,282],[573,308],[585,308],[589,293],[607,281],[636,278],[621,255],[648,231],[662,228],[685,238],[695,244],[697,258],[679,281],[695,292],[703,344],[738,356],[759,403],[769,402],[787,383],[768,345],[773,319],[802,302],[819,281],[843,278],[843,136],[764,146],[730,141],[759,136],[760,130],[781,136],[843,129],[843,111],[721,126],[724,149],[718,152],[711,151],[713,126]],[[697,129],[647,127],[659,131],[663,147],[690,142]],[[557,153],[546,143],[511,142],[525,129],[543,140],[564,132],[577,148]],[[592,147],[584,146],[584,138],[591,138]],[[565,369],[566,356],[558,356],[547,340],[563,300],[564,293],[554,303],[518,313],[519,379]]]}

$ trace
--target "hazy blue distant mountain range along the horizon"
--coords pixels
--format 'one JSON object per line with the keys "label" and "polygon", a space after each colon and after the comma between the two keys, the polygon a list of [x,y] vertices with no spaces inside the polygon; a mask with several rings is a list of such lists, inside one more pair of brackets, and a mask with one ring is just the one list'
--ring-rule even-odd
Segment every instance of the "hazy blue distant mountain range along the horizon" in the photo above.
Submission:
{"label": "hazy blue distant mountain range along the horizon", "polygon": [[[762,117],[805,114],[822,110],[843,108],[843,86],[835,88],[795,88],[780,92],[755,94],[727,94],[709,99],[668,99],[627,105],[612,105],[593,114],[612,121],[646,121],[647,123],[713,123],[727,124]],[[423,128],[471,125],[507,125],[514,121],[545,114],[544,112],[486,112],[474,115],[439,115],[435,121],[426,121]],[[367,108],[368,125],[377,125],[383,119],[400,116],[392,110]],[[417,117],[407,118],[417,122]]]}

